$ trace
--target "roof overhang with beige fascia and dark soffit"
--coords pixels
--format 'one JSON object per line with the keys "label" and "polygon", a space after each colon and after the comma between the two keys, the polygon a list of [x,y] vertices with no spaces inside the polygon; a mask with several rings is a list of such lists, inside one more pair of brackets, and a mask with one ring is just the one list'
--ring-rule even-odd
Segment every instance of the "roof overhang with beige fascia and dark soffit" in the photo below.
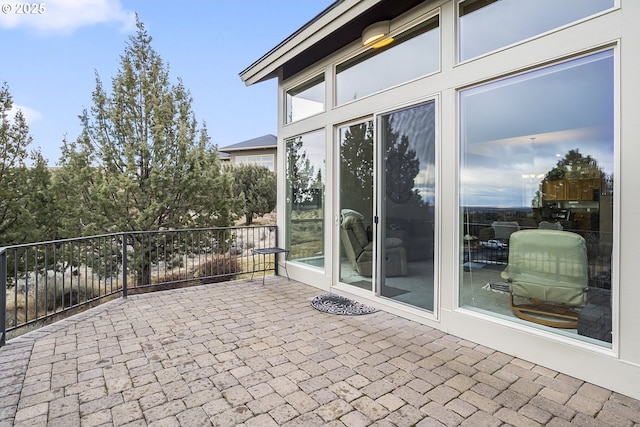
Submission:
{"label": "roof overhang with beige fascia and dark soffit", "polygon": [[392,20],[425,0],[337,0],[240,73],[247,85],[287,79],[353,43],[370,24]]}

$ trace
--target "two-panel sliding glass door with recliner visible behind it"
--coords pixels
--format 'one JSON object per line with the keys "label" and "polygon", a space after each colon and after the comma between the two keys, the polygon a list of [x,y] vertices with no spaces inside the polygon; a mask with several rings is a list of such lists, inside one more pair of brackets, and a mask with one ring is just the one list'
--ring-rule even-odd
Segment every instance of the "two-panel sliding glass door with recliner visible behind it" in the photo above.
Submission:
{"label": "two-panel sliding glass door with recliner visible behind it", "polygon": [[434,307],[435,102],[338,129],[339,281]]}

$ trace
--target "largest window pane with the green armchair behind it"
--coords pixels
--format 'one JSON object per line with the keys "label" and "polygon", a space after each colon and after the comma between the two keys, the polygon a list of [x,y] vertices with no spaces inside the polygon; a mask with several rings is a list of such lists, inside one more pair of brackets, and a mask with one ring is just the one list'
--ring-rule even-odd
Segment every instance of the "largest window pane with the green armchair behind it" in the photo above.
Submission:
{"label": "largest window pane with the green armchair behind it", "polygon": [[[460,93],[461,306],[610,345],[613,70],[604,51]],[[544,301],[577,324],[510,306]]]}

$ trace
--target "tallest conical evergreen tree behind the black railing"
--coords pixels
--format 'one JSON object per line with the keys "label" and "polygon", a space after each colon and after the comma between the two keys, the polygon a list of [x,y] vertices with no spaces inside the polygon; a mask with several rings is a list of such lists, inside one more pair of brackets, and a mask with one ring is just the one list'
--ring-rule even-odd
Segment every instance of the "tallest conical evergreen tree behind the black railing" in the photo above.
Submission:
{"label": "tallest conical evergreen tree behind the black railing", "polygon": [[[228,226],[233,220],[232,177],[223,173],[206,126],[198,128],[189,91],[181,80],[169,81],[151,41],[137,20],[111,93],[96,75],[93,107],[80,116],[82,133],[64,143],[56,185],[68,190],[67,233]],[[143,285],[148,264],[157,259],[157,245],[144,246],[146,261],[137,267]]]}

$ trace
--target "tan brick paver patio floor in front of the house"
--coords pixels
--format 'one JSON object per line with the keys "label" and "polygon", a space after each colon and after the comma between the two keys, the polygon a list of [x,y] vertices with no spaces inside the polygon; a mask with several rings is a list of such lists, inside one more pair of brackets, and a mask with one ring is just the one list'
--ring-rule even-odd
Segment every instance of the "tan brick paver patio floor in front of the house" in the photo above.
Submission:
{"label": "tan brick paver patio floor in front of the house", "polygon": [[[633,426],[640,402],[261,278],[130,296],[0,349],[0,426]],[[635,423],[635,424],[634,424]]]}

